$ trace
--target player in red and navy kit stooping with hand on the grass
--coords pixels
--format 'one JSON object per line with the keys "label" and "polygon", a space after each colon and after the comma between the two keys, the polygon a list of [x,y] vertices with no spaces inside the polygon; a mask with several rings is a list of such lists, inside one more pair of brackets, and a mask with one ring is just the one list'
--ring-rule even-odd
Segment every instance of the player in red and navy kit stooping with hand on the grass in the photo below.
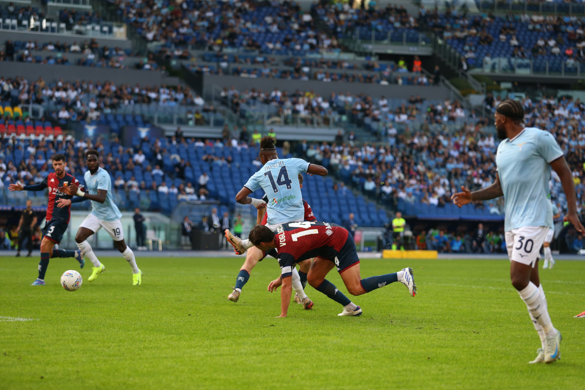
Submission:
{"label": "player in red and navy kit stooping with hand on the grass", "polygon": [[256,225],[250,230],[249,240],[258,249],[278,250],[280,278],[272,281],[268,287],[274,291],[280,285],[280,317],[286,317],[291,296],[291,270],[295,264],[308,258],[316,257],[307,275],[309,284],[327,295],[333,301],[343,305],[339,316],[359,316],[360,306],[355,305],[345,295],[325,279],[333,267],[337,268],[343,284],[352,295],[362,295],[387,284],[400,281],[414,296],[417,285],[412,277],[412,268],[403,268],[393,274],[378,275],[362,279],[360,277],[360,259],[357,257],[356,244],[346,229],[335,223],[327,222],[288,222],[277,227],[276,233],[266,226]]}

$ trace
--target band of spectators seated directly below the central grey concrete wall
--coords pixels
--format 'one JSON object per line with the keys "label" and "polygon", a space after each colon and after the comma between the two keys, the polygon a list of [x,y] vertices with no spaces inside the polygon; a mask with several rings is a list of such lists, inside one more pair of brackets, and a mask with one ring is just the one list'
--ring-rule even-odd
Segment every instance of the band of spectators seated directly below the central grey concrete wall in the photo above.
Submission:
{"label": "band of spectators seated directly below the central grey concrete wall", "polygon": [[[238,114],[264,112],[269,117],[268,124],[305,123],[305,125],[329,125],[345,116],[359,126],[371,131],[395,135],[395,124],[423,123],[424,126],[441,125],[458,120],[469,123],[483,123],[475,112],[466,112],[459,101],[426,101],[420,95],[403,99],[387,99],[381,96],[374,99],[367,94],[335,94],[321,96],[313,91],[288,93],[275,87],[273,91],[247,89],[238,91],[235,87],[225,87],[221,92],[223,104]],[[394,143],[393,137],[388,139]]]}

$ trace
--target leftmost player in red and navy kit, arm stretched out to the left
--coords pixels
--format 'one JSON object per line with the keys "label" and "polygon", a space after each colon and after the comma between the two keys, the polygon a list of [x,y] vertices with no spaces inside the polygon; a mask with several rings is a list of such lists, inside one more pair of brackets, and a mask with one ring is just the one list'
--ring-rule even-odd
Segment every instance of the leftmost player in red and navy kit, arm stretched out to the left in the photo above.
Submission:
{"label": "leftmost player in red and navy kit, arm stretched out to the left", "polygon": [[[39,277],[32,283],[33,286],[44,285],[44,275],[49,267],[49,258],[53,257],[73,257],[80,264],[80,268],[85,265],[85,260],[80,250],[64,250],[54,249],[55,244],[61,243],[63,234],[69,226],[69,219],[71,216],[71,206],[67,208],[59,208],[59,203],[62,200],[68,202],[71,195],[63,191],[68,185],[74,185],[75,188],[79,185],[76,178],[65,172],[65,156],[63,154],[55,154],[53,156],[54,173],[50,173],[42,182],[35,185],[22,185],[20,183],[11,184],[8,186],[10,191],[42,191],[49,188],[49,203],[47,203],[46,222],[43,228],[43,239],[40,241],[40,262],[39,262]],[[55,207],[57,202],[57,207]],[[71,204],[71,203],[70,203]]]}

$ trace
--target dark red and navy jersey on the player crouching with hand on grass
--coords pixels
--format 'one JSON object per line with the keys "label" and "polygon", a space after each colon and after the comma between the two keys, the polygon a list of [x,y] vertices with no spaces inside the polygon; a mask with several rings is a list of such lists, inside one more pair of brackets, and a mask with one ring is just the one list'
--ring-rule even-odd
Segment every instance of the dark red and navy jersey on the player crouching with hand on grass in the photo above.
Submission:
{"label": "dark red and navy jersey on the player crouching with hand on grass", "polygon": [[335,223],[289,222],[276,229],[274,243],[282,277],[299,261],[320,256],[333,260],[347,241],[347,230]]}

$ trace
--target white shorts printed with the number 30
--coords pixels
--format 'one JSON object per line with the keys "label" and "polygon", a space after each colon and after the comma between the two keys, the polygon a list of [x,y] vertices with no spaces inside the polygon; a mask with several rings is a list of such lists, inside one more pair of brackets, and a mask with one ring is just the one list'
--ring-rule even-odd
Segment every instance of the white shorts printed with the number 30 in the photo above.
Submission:
{"label": "white shorts printed with the number 30", "polygon": [[548,226],[524,226],[506,232],[506,249],[510,261],[534,268],[549,229]]}

